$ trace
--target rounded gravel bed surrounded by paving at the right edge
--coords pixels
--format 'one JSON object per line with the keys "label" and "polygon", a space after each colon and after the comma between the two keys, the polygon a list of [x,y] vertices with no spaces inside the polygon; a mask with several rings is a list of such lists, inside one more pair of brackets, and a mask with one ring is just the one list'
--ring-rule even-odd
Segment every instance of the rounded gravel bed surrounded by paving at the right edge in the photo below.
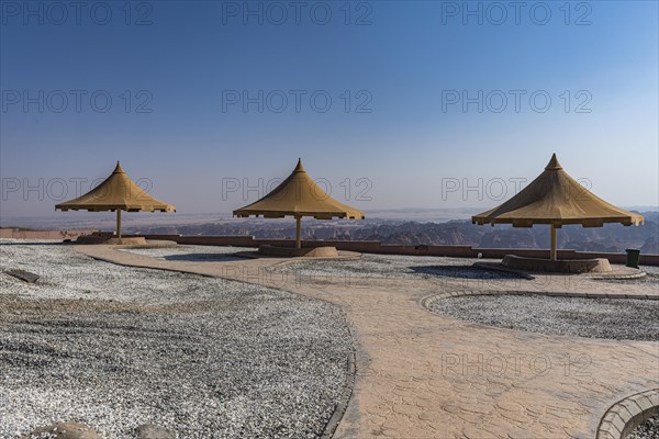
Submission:
{"label": "rounded gravel bed surrounded by paving at the right edge", "polygon": [[440,299],[429,309],[481,325],[588,338],[659,340],[659,302],[546,295]]}

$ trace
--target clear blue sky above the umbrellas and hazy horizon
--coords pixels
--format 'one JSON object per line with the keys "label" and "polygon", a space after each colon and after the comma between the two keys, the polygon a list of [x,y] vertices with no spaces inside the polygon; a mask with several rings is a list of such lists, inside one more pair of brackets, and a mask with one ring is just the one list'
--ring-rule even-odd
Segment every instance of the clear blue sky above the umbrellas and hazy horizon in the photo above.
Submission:
{"label": "clear blue sky above the umbrellas and hazy horizon", "polygon": [[254,201],[223,181],[263,192],[298,157],[367,213],[487,209],[551,153],[612,203],[658,204],[656,1],[525,2],[518,23],[510,2],[58,4],[2,1],[3,217],[52,215],[62,181],[72,198],[116,160],[185,213]]}

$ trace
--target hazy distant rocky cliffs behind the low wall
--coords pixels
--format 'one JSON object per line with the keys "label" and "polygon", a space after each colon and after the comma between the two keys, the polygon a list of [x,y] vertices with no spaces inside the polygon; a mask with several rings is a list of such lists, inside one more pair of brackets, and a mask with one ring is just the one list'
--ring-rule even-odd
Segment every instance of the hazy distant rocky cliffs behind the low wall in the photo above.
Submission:
{"label": "hazy distant rocky cliffs behind the low wall", "polygon": [[[557,230],[559,248],[581,251],[621,252],[639,248],[659,254],[659,213],[645,212],[646,224],[625,227],[607,224],[584,228],[563,226]],[[292,238],[293,221],[250,219],[194,225],[139,227],[132,232],[182,235],[254,235],[258,238]],[[509,225],[477,226],[469,221],[420,223],[369,219],[309,221],[302,227],[304,239],[379,240],[405,245],[469,245],[483,248],[548,248],[549,226],[513,228]]]}

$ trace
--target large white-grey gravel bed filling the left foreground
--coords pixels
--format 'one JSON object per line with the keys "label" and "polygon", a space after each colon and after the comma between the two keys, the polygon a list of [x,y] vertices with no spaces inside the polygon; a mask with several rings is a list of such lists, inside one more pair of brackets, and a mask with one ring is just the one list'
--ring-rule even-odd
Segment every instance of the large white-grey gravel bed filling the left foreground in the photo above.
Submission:
{"label": "large white-grey gravel bed filling the left foreground", "polygon": [[53,243],[2,240],[0,269],[1,438],[66,420],[105,439],[149,423],[181,439],[315,438],[343,392],[353,341],[330,303]]}

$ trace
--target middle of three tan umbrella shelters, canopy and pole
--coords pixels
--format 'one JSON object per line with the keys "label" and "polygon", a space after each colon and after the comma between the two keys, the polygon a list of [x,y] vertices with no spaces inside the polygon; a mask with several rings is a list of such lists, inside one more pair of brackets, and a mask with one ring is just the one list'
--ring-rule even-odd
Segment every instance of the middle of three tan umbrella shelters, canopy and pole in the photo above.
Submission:
{"label": "middle of three tan umbrella shelters, canopy and pole", "polygon": [[266,218],[295,217],[295,246],[301,247],[300,219],[313,216],[316,219],[358,218],[364,219],[364,212],[334,200],[321,189],[304,170],[302,160],[281,184],[263,199],[238,209],[235,216],[264,216]]}

